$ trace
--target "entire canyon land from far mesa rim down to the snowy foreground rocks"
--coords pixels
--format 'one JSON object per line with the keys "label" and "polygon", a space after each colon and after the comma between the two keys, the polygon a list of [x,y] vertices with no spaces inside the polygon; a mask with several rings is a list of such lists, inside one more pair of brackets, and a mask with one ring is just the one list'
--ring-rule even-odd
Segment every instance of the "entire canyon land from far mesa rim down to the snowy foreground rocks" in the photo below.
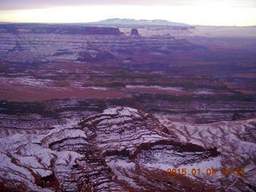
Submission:
{"label": "entire canyon land from far mesa rim down to the snowy foreground rocks", "polygon": [[255,43],[201,28],[1,24],[0,191],[255,191]]}

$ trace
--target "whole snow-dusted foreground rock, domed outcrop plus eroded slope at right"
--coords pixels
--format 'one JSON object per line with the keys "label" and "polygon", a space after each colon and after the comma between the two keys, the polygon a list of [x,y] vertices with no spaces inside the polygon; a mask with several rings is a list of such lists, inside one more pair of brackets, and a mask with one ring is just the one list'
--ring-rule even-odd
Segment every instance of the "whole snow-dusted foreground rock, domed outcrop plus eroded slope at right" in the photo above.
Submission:
{"label": "whole snow-dusted foreground rock, domed outcrop plus eroded slope at right", "polygon": [[[116,107],[80,121],[52,126],[41,134],[24,133],[1,138],[1,189],[255,189],[255,119],[233,122],[234,126],[228,122],[181,126],[162,121],[166,126],[158,118],[140,110]],[[241,125],[243,130],[237,128]],[[241,150],[242,156],[236,157],[241,155]],[[187,171],[191,167],[201,167],[203,172],[207,167],[221,169],[227,163],[231,167],[245,167],[246,176],[216,174],[209,178],[206,174],[167,175],[169,167],[183,167]]]}

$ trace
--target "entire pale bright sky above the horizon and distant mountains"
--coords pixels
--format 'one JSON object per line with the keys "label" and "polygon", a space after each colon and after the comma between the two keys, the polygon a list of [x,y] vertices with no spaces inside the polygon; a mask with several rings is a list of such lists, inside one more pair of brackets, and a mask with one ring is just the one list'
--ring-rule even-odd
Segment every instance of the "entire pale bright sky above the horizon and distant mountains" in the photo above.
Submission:
{"label": "entire pale bright sky above the horizon and distant mountains", "polygon": [[97,22],[107,18],[255,26],[256,0],[0,0],[0,22]]}

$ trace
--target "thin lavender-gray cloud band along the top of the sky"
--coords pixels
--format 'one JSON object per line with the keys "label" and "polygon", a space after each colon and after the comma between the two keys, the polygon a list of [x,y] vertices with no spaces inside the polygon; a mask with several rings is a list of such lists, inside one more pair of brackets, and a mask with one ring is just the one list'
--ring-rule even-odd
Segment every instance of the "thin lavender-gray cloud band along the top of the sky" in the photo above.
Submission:
{"label": "thin lavender-gray cloud band along the top of the sky", "polygon": [[[40,9],[54,6],[197,6],[212,0],[0,0],[0,10]],[[230,6],[256,7],[255,0],[214,0],[214,2],[230,2]]]}

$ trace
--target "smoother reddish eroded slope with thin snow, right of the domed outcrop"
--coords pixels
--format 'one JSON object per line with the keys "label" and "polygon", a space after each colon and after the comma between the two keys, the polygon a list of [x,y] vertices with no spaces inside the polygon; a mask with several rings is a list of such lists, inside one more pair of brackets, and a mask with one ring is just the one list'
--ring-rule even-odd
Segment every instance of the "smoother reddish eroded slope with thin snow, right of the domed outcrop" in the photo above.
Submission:
{"label": "smoother reddish eroded slope with thin snow, right of the domed outcrop", "polygon": [[[218,148],[221,158],[219,165],[215,164],[214,168],[217,168],[218,172],[222,172],[223,168],[234,171],[226,177],[214,176],[209,179],[211,182],[218,183],[218,186],[222,186],[227,191],[256,190],[256,118],[253,115],[248,118],[208,124],[173,122],[170,118],[161,117],[158,119],[180,141],[206,148],[210,146]],[[235,170],[241,168],[245,173],[236,174]]]}

